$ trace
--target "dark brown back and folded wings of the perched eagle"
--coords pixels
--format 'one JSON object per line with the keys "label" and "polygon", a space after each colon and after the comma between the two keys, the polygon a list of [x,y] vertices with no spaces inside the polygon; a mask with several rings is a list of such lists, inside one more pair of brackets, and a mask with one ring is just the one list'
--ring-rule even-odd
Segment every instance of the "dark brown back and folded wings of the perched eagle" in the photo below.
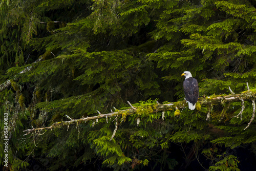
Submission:
{"label": "dark brown back and folded wings of the perched eagle", "polygon": [[195,78],[187,78],[183,82],[183,89],[185,93],[186,100],[190,103],[193,103],[193,105],[197,102],[199,97],[199,88],[198,88],[198,82]]}

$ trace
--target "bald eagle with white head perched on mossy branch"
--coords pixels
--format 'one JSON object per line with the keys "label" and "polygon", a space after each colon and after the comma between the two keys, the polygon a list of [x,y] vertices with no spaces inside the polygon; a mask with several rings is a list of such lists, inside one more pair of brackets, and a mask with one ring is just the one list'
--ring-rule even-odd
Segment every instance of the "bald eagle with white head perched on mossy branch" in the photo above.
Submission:
{"label": "bald eagle with white head perched on mossy branch", "polygon": [[199,88],[197,79],[193,78],[189,71],[185,71],[181,76],[185,76],[183,82],[183,89],[186,100],[188,102],[188,108],[194,110],[196,108],[196,102],[199,97]]}

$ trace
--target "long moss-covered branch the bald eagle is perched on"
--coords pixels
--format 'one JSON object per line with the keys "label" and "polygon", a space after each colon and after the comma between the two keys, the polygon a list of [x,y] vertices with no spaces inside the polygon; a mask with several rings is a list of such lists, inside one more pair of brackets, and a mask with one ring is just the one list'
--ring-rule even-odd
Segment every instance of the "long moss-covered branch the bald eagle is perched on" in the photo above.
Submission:
{"label": "long moss-covered branch the bald eagle is perched on", "polygon": [[[221,104],[221,103],[230,103],[230,102],[235,102],[235,101],[241,101],[241,99],[245,101],[252,101],[256,98],[256,89],[253,90],[248,90],[245,92],[242,92],[241,94],[230,94],[230,95],[217,95],[217,96],[210,96],[210,97],[205,97],[205,98],[199,98],[198,102],[200,102],[201,105],[216,105],[216,104]],[[156,105],[156,104],[154,104]],[[132,106],[132,105],[131,105]],[[163,112],[163,111],[175,111],[177,109],[183,109],[187,108],[187,103],[186,100],[183,101],[177,101],[174,103],[168,103],[168,104],[159,104],[157,103],[157,107],[153,112]],[[71,125],[71,124],[78,124],[82,122],[86,122],[89,120],[96,120],[100,118],[108,118],[108,117],[117,117],[117,116],[122,116],[123,113],[126,115],[132,115],[136,113],[137,108],[133,107],[127,110],[121,110],[118,112],[111,112],[108,114],[100,114],[97,116],[92,116],[92,117],[82,117],[79,119],[71,119],[69,121],[60,121],[60,122],[55,122],[49,127],[40,127],[40,128],[33,128],[33,129],[28,129],[23,132],[26,132],[25,135],[28,135],[32,132],[36,131],[42,131],[42,130],[51,130],[56,127],[61,127],[63,125]]]}

